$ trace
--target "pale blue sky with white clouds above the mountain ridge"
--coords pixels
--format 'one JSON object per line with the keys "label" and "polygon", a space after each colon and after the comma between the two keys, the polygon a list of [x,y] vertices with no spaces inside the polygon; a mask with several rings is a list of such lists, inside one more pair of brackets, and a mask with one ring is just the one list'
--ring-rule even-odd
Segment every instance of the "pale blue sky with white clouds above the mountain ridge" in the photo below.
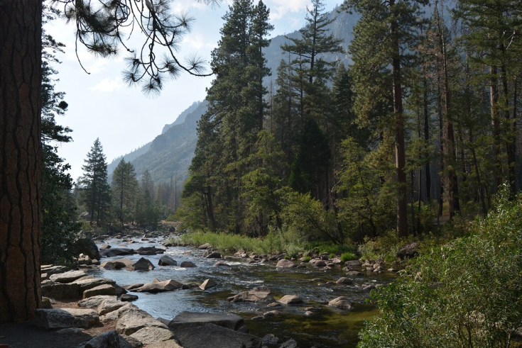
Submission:
{"label": "pale blue sky with white clouds above the mountain ridge", "polygon": [[[175,13],[188,11],[195,18],[191,32],[180,44],[180,57],[197,55],[210,61],[210,52],[217,47],[219,29],[224,23],[222,16],[227,12],[228,4],[232,4],[228,1],[224,0],[217,7],[197,0],[172,2]],[[323,2],[326,11],[332,11],[342,3],[341,0]],[[310,0],[265,0],[264,4],[271,11],[273,37],[302,28]],[[159,96],[151,98],[138,86],[129,87],[122,81],[125,54],[112,58],[94,57],[79,45],[78,56],[89,72],[87,74],[75,54],[75,26],[59,18],[45,26],[45,30],[66,45],[65,54],[57,54],[62,63],[55,65],[59,72],[55,90],[65,92],[69,107],[65,116],[58,116],[57,122],[72,128],[73,141],[58,145],[58,155],[70,164],[69,172],[75,180],[82,175],[84,159],[97,137],[110,163],[161,134],[165,124],[173,123],[194,101],[205,99],[206,89],[212,82],[212,77],[181,74],[178,79],[168,81]],[[129,45],[138,47],[139,43],[139,34],[135,32]]]}

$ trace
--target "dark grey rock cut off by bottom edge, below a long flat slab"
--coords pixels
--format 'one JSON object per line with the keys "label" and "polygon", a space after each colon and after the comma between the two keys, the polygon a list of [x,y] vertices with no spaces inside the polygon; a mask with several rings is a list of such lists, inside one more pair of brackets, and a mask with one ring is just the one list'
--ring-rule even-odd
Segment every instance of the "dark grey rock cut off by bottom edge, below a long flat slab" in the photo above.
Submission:
{"label": "dark grey rock cut off by bottom edge, below a long flat slab", "polygon": [[181,327],[175,334],[184,348],[261,348],[263,343],[259,337],[214,324]]}

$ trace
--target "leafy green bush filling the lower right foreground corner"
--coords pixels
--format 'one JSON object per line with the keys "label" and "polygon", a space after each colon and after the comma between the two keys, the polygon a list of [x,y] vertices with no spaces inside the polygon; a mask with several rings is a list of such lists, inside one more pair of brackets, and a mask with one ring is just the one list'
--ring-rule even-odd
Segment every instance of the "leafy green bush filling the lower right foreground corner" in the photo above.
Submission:
{"label": "leafy green bush filling the lower right foreground corner", "polygon": [[359,347],[521,347],[512,335],[522,326],[522,196],[508,198],[505,189],[469,237],[434,247],[374,291],[380,315]]}

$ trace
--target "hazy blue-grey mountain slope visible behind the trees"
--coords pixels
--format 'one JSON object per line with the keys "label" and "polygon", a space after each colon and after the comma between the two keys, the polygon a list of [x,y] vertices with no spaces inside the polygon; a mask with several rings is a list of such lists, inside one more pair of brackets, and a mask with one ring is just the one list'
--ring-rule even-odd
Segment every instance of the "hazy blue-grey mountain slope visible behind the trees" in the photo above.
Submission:
{"label": "hazy blue-grey mountain slope visible behind the trees", "polygon": [[[346,12],[337,13],[337,9],[327,14],[327,18],[337,18],[327,28],[335,38],[343,40],[342,47],[348,50],[348,45],[353,38],[353,27],[359,16]],[[300,33],[296,30],[288,35],[289,38],[300,38]],[[277,68],[282,59],[288,60],[281,51],[281,45],[288,43],[285,35],[278,35],[272,38],[271,43],[263,51],[267,60],[267,66],[272,71],[271,77],[266,77],[263,83],[269,88],[271,81],[276,80]],[[350,63],[349,55],[327,54],[323,58],[327,61],[341,61],[345,65]],[[145,169],[151,172],[154,181],[162,182],[170,180],[170,177],[178,175],[182,181],[187,178],[188,167],[194,157],[194,150],[197,142],[197,121],[207,111],[207,101],[196,101],[180,113],[173,123],[165,125],[161,132],[153,141],[143,145],[138,150],[134,150],[124,155],[126,161],[131,161],[136,169],[136,174],[140,176]],[[109,176],[118,165],[121,157],[114,159],[109,164],[107,170]]]}

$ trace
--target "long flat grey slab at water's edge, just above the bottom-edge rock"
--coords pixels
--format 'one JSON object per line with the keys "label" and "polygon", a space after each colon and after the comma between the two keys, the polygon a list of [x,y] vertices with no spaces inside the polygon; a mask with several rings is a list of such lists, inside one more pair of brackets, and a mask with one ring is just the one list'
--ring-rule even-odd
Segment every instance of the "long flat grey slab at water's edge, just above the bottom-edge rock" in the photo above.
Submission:
{"label": "long flat grey slab at water's edge, just above the bottom-edge rock", "polygon": [[214,324],[226,327],[230,330],[237,330],[243,326],[243,318],[237,315],[227,315],[219,313],[194,313],[181,312],[170,320],[168,327],[170,330],[178,330],[180,327],[197,327],[206,324]]}

